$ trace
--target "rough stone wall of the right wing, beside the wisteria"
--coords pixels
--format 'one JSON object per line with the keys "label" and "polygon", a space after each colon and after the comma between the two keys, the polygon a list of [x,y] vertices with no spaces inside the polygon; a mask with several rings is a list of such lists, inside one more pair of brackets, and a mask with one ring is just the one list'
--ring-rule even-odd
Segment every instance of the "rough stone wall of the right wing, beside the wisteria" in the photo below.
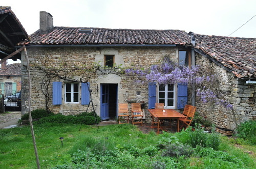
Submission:
{"label": "rough stone wall of the right wing, beside the wisteria", "polygon": [[201,116],[208,118],[217,127],[235,129],[256,114],[256,85],[247,85],[233,73],[210,62],[200,54],[196,54],[196,64],[204,67],[205,71],[212,71],[219,77],[219,89],[225,95],[225,99],[233,105],[233,111],[220,105],[202,104],[197,100],[197,111]]}

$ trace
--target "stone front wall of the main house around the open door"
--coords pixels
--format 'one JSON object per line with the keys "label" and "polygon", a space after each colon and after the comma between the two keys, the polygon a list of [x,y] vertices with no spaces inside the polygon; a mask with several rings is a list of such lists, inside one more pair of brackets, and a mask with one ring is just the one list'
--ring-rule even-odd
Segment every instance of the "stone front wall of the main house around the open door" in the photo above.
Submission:
{"label": "stone front wall of the main house around the open door", "polygon": [[[47,67],[57,67],[61,65],[62,69],[68,69],[72,66],[92,65],[97,62],[103,65],[104,54],[114,54],[115,63],[122,65],[121,67],[129,68],[142,66],[148,68],[150,65],[162,60],[163,56],[168,54],[173,61],[178,59],[178,48],[175,47],[116,47],[116,48],[100,48],[100,47],[27,47],[28,57],[30,61],[31,73],[31,107],[45,108],[45,96],[41,91],[42,79],[45,73],[39,70],[38,65]],[[23,99],[22,113],[28,112],[28,77],[25,62],[25,55],[22,53],[22,81],[23,81]],[[79,78],[79,75],[76,75]],[[115,83],[118,86],[118,103],[126,102],[127,99],[134,99],[137,102],[148,102],[148,86],[147,82],[135,82],[135,77],[126,76],[124,74],[96,75],[89,79],[92,89],[92,98],[96,107],[97,115],[100,115],[100,91],[101,83]],[[141,80],[138,78],[138,80]],[[51,79],[51,81],[59,81],[59,79]],[[62,80],[63,81],[63,80]],[[65,81],[63,81],[65,82]],[[52,86],[50,86],[50,93]],[[79,114],[87,109],[87,105],[66,104],[52,105],[49,102],[50,109],[55,113],[63,115]],[[89,111],[92,107],[89,107]],[[148,112],[146,112],[148,114]]]}

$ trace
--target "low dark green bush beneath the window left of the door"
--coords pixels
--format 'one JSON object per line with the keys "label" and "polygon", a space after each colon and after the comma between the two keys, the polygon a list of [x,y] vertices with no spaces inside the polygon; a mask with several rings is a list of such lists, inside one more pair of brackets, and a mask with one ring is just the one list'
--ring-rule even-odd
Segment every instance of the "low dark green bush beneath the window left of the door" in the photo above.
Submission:
{"label": "low dark green bush beneath the window left of the door", "polygon": [[[93,115],[93,116],[92,116]],[[97,122],[100,122],[100,117],[96,115]],[[69,124],[86,124],[86,125],[93,125],[96,124],[95,117],[93,112],[82,112],[79,115],[53,115],[49,117],[41,118],[40,120],[36,121],[34,124],[42,124],[42,123],[69,123]]]}

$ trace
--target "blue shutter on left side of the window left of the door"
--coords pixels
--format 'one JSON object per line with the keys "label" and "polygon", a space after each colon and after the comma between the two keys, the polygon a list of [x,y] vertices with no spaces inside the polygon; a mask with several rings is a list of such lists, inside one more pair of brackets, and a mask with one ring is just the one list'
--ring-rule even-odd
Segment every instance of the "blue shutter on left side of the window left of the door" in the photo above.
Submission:
{"label": "blue shutter on left side of the window left of the door", "polygon": [[62,82],[53,81],[52,83],[52,104],[60,105],[62,104]]}

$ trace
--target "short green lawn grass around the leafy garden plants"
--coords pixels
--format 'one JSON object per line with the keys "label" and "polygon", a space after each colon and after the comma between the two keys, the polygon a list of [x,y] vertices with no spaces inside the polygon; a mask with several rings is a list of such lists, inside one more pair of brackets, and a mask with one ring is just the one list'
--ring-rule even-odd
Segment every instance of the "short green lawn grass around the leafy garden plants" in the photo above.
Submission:
{"label": "short green lawn grass around the leafy garden plants", "polygon": [[[48,123],[34,125],[41,168],[51,168],[57,164],[63,164],[63,161],[70,159],[71,154],[76,153],[77,150],[87,151],[88,147],[94,148],[94,152],[115,150],[126,144],[144,149],[155,146],[163,136],[163,134],[158,135],[155,132],[143,134],[136,126],[126,124],[109,125],[99,127],[99,129],[95,126],[82,125],[80,131],[79,128],[80,125],[72,124]],[[171,135],[175,134],[165,134],[165,136]],[[184,143],[185,135],[185,132],[176,134],[179,141]],[[60,137],[64,137],[63,146]],[[29,126],[0,130],[0,144],[0,168],[36,168]],[[250,151],[254,150],[255,147]],[[244,168],[254,168],[255,166],[255,156],[248,155],[243,150],[234,147],[225,137],[220,145],[220,151],[227,152],[230,156],[235,156],[239,160],[241,159]],[[152,159],[152,157],[145,156],[141,160],[147,162]],[[179,162],[176,168],[225,168],[224,166],[226,168],[236,168],[238,166],[238,163],[211,157],[191,156],[189,158],[170,158],[169,160]],[[138,166],[138,168],[140,167]]]}

